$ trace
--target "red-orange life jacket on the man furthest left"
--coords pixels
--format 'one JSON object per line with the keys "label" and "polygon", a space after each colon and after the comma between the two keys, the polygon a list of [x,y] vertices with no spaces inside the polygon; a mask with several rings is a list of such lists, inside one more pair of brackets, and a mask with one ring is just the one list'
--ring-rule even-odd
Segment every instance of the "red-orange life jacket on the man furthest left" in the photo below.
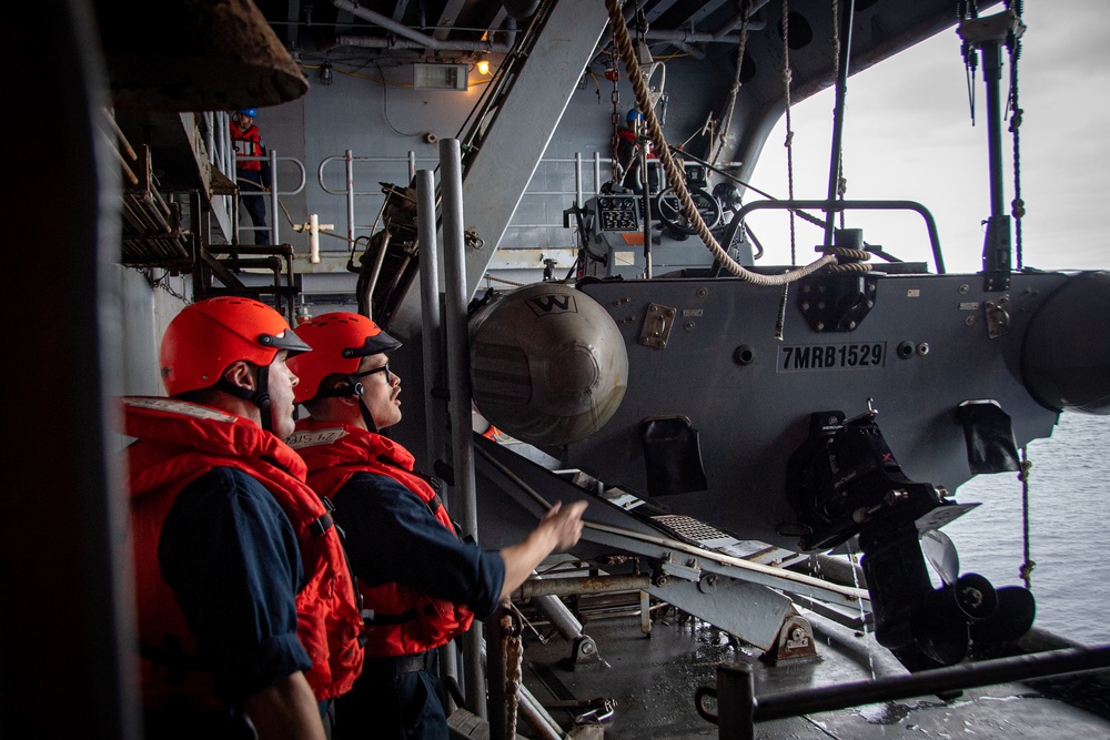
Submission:
{"label": "red-orange life jacket on the man furthest left", "polygon": [[305,678],[320,700],[346,692],[362,670],[364,628],[340,533],[304,483],[304,462],[248,419],[171,398],[125,398],[124,432],[138,438],[128,463],[144,704],[154,709],[183,695],[215,706],[212,677],[198,663],[195,639],[158,561],[178,495],[215,467],[250,475],[289,517],[307,578],[296,594],[296,635],[312,660]]}

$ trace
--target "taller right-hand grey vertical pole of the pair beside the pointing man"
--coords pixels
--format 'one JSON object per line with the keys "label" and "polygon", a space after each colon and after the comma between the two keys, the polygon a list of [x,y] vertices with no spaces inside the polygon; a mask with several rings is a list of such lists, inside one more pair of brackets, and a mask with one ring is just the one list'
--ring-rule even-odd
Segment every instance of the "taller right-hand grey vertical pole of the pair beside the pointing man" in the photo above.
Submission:
{"label": "taller right-hand grey vertical pole of the pair beside the pointing man", "polygon": [[[444,287],[446,288],[447,377],[451,393],[451,439],[454,489],[462,504],[463,534],[478,539],[478,510],[474,481],[474,443],[471,437],[470,337],[466,304],[466,240],[463,221],[462,148],[457,139],[440,140],[440,191],[443,212]],[[465,637],[466,701],[486,718],[485,671],[482,669],[482,627],[475,622]]]}

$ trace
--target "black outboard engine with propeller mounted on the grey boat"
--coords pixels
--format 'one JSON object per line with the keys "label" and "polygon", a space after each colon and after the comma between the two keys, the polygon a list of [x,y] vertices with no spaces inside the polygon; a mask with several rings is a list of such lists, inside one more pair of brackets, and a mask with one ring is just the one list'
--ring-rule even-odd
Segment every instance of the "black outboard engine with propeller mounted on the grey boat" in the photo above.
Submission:
{"label": "black outboard engine with propeller mounted on the grey boat", "polygon": [[[1032,626],[1028,590],[996,590],[978,574],[958,575],[955,547],[937,530],[978,505],[957,504],[944,488],[910,480],[874,410],[847,420],[838,410],[813,414],[809,437],[790,457],[787,490],[798,519],[780,531],[800,536],[803,549],[826,550],[858,537],[876,639],[910,670],[957,663],[972,639],[1013,640]],[[947,543],[947,551],[930,558],[947,564],[938,567],[939,589],[929,578],[922,537]]]}

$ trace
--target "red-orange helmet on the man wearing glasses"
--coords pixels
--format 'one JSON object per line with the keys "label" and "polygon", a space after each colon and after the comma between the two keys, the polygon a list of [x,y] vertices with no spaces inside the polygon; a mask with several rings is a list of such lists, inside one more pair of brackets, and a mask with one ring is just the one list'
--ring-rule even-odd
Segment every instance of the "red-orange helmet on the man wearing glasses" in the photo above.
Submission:
{"label": "red-orange helmet on the man wearing glasses", "polygon": [[320,383],[329,375],[353,375],[367,355],[393,352],[401,343],[362,314],[335,312],[322,314],[296,327],[296,335],[312,347],[312,354],[299,355],[289,366],[301,378],[294,401],[303,404],[320,393]]}

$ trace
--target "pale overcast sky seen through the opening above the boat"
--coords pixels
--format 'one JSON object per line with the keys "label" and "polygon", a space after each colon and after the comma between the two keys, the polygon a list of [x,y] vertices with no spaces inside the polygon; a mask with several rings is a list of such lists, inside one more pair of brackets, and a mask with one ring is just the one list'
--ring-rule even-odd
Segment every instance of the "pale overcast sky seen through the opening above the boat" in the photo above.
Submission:
{"label": "pale overcast sky seen through the opening above the boat", "polygon": [[[1000,10],[992,8],[983,14]],[[1018,62],[1023,110],[1021,196],[1023,264],[1042,270],[1110,267],[1110,4],[1106,0],[1032,0]],[[1009,92],[1003,51],[1003,100]],[[894,59],[852,75],[846,93],[844,166],[849,200],[910,200],[937,221],[948,272],[981,268],[982,226],[990,215],[987,111],[982,69],[975,78],[972,126],[967,73],[955,30],[944,31]],[[834,93],[827,90],[791,110],[795,197],[824,199]],[[1013,197],[1012,140],[1003,121],[1007,210]],[[785,124],[764,148],[753,185],[787,196]],[[750,200],[750,199],[749,199]],[[774,241],[773,221],[749,219],[757,236]],[[760,227],[760,223],[768,225]],[[912,212],[848,214],[869,244],[907,261],[931,251],[924,220]],[[813,259],[820,232],[798,222],[799,262]],[[778,252],[777,250],[781,250]],[[789,262],[789,242],[769,247],[768,264]],[[775,255],[778,255],[777,257]]]}

